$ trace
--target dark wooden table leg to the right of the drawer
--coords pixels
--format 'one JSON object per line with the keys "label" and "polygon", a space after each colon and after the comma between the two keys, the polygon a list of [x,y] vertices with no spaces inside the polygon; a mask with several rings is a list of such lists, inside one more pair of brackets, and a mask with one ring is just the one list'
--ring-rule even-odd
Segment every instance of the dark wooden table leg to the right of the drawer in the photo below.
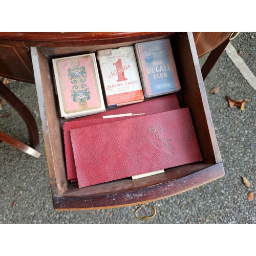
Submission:
{"label": "dark wooden table leg to the right of the drawer", "polygon": [[221,54],[225,50],[225,48],[228,45],[228,43],[229,43],[229,38],[226,39],[217,48],[212,50],[211,53],[209,54],[208,58],[206,59],[204,65],[203,65],[203,67],[201,69],[201,72],[202,72],[204,80],[207,77],[207,75],[210,73],[211,69],[214,67],[215,63],[217,62],[217,60],[219,59],[219,57],[221,56]]}

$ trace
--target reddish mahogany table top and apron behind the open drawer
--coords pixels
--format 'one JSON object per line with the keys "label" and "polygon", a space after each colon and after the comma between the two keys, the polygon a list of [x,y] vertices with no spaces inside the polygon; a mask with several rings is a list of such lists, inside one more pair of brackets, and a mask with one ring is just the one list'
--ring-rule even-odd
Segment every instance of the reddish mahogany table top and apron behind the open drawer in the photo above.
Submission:
{"label": "reddish mahogany table top and apron behind the open drawer", "polygon": [[[202,57],[217,48],[230,33],[193,32],[198,56]],[[35,83],[30,47],[45,47],[55,53],[67,53],[68,49],[65,48],[69,47],[108,44],[127,46],[127,43],[135,40],[140,42],[149,38],[163,39],[175,34],[176,32],[0,32],[0,76]],[[70,51],[72,53],[74,49]],[[219,57],[218,54],[216,56]]]}

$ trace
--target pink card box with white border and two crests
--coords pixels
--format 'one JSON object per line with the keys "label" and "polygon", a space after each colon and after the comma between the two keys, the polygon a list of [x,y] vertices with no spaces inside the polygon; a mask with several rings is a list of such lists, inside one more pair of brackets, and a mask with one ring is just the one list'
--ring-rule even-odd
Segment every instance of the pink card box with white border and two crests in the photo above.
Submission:
{"label": "pink card box with white border and two crests", "polygon": [[60,114],[65,118],[105,111],[95,54],[53,59]]}

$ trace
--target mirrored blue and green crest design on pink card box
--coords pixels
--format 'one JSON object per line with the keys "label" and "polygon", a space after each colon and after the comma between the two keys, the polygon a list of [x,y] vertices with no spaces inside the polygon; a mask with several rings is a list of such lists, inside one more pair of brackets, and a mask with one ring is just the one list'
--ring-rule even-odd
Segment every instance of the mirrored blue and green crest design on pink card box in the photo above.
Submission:
{"label": "mirrored blue and green crest design on pink card box", "polygon": [[[77,83],[77,81],[83,83],[87,79],[86,68],[84,68],[83,66],[77,67],[77,65],[75,65],[75,68],[68,69],[68,72],[69,81],[73,84]],[[91,92],[89,90],[89,87],[85,83],[81,85],[81,88],[79,88],[77,85],[73,86],[71,92],[71,97],[73,98],[73,101],[77,102],[79,100],[82,105],[84,104],[84,100],[89,100],[91,98]]]}

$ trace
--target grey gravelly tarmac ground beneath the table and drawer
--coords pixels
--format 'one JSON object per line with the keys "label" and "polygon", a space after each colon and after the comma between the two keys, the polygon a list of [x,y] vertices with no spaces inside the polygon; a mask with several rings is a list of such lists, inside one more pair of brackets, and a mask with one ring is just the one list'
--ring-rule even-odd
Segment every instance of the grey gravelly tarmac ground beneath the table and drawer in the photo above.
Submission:
{"label": "grey gravelly tarmac ground beneath the table and drawer", "polygon": [[[254,35],[254,38],[251,38]],[[232,45],[256,75],[255,32],[241,33]],[[203,63],[204,58],[200,59]],[[218,94],[210,94],[219,86]],[[0,223],[256,223],[256,200],[247,194],[256,186],[256,91],[243,78],[224,52],[205,80],[225,176],[193,190],[155,201],[157,215],[148,222],[134,217],[135,206],[89,211],[55,211],[52,205],[48,168],[34,84],[11,81],[9,88],[28,106],[39,127],[40,143],[35,159],[6,143],[0,143]],[[245,110],[230,109],[226,96],[248,99]],[[22,118],[4,105],[0,130],[28,143]],[[243,185],[245,176],[251,187]]]}

